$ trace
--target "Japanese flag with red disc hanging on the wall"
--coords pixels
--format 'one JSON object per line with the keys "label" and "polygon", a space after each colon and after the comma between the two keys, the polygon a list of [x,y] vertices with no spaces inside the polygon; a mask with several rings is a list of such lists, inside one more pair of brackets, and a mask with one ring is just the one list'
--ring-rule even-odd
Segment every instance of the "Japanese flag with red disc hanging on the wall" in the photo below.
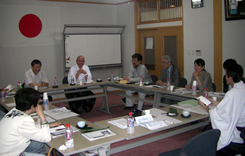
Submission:
{"label": "Japanese flag with red disc hanging on the wall", "polygon": [[0,46],[60,43],[59,8],[0,5]]}

